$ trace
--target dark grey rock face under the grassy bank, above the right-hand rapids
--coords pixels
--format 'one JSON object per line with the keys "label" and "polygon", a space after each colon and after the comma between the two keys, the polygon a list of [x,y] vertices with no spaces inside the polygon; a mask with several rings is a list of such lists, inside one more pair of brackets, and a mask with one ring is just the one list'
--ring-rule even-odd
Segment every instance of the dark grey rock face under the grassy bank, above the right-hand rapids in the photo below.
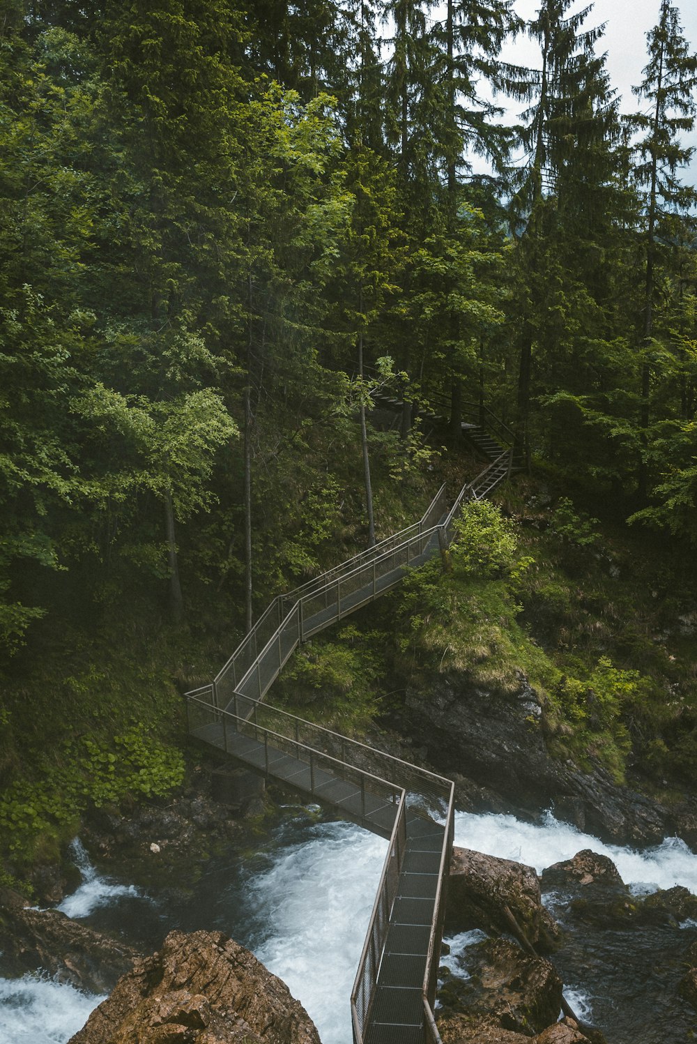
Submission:
{"label": "dark grey rock face under the grassy bank, above the right-hand rapids", "polygon": [[550,756],[544,708],[522,672],[512,694],[477,688],[465,671],[430,675],[428,697],[408,689],[394,725],[418,736],[438,772],[475,781],[518,813],[551,807],[580,830],[627,845],[657,844],[670,832],[665,808],[618,786],[603,766],[585,773]]}

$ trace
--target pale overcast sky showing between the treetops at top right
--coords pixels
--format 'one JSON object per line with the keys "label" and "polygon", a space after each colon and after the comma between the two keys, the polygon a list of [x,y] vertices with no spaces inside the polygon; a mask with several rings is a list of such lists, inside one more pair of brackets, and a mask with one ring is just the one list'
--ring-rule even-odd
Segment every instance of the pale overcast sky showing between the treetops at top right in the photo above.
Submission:
{"label": "pale overcast sky showing between the treetops at top right", "polygon": [[[515,0],[513,6],[521,18],[530,19],[539,3],[537,0]],[[582,10],[584,6],[587,3],[576,0],[570,11]],[[683,35],[694,53],[697,50],[697,0],[673,0],[673,6],[680,11]],[[647,63],[646,32],[658,21],[659,7],[659,0],[596,0],[584,22],[586,28],[606,23],[605,35],[596,48],[598,53],[607,52],[607,71],[622,96],[622,112],[639,111],[640,100],[631,93],[631,88],[643,78],[642,69]],[[519,37],[504,48],[502,57],[519,65],[537,65],[538,53],[533,42]],[[697,133],[693,133],[686,144],[697,146]],[[693,157],[691,169],[686,170],[683,181],[697,184],[697,155]]]}

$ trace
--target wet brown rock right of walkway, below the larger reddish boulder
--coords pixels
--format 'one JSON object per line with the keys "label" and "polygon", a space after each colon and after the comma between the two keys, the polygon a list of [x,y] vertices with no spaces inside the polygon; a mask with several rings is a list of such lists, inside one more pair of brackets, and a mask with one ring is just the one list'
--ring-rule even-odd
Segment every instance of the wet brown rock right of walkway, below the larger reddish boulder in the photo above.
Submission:
{"label": "wet brown rock right of walkway, below the larger reddish boulder", "polygon": [[[439,994],[441,1004],[449,1010],[446,1022],[451,1023],[454,1014],[462,1013],[470,1019],[498,1025],[499,1029],[525,1034],[528,1040],[556,1022],[561,979],[549,960],[529,956],[514,943],[502,939],[487,939],[468,947],[461,959],[470,977],[448,977]],[[458,1040],[454,1035],[449,1039]]]}

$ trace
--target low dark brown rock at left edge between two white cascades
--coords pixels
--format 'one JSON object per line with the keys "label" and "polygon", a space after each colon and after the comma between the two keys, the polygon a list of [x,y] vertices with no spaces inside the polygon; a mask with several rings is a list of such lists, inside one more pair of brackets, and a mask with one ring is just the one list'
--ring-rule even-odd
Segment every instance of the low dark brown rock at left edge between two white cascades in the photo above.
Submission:
{"label": "low dark brown rock at left edge between two white cascades", "polygon": [[138,956],[129,946],[71,921],[58,910],[29,907],[18,893],[0,888],[2,970],[9,976],[41,968],[59,981],[106,993]]}

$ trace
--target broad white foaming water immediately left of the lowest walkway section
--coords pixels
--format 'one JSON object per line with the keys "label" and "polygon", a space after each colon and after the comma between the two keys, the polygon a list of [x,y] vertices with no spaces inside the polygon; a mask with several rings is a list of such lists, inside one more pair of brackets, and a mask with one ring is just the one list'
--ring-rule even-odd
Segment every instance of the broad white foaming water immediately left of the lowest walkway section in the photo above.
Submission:
{"label": "broad white foaming water immediately left of the lowest walkway section", "polygon": [[354,984],[387,843],[350,823],[277,854],[251,883],[268,919],[259,959],[284,980],[322,1044],[350,1044]]}

